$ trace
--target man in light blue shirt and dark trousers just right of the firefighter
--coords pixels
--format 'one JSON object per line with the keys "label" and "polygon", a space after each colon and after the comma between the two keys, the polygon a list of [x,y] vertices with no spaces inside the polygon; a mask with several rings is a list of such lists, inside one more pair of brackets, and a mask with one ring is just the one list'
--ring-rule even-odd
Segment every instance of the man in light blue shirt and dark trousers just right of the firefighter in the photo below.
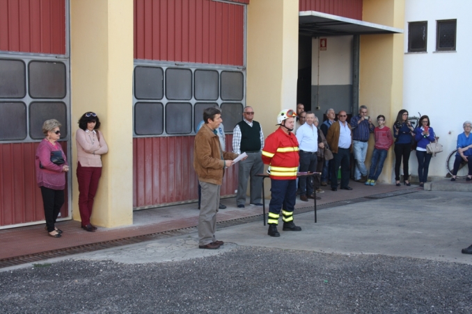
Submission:
{"label": "man in light blue shirt and dark trousers just right of the firefighter", "polygon": [[[306,113],[306,122],[297,129],[297,140],[299,142],[299,155],[300,155],[300,172],[315,172],[318,151],[318,129],[313,124],[315,122],[315,114],[311,111]],[[324,147],[321,142],[320,147]],[[309,176],[308,180],[306,176],[299,178],[300,182],[300,200],[308,201],[308,199],[321,199],[321,197],[315,196],[315,190],[313,189],[313,177]],[[307,196],[308,195],[308,196]]]}

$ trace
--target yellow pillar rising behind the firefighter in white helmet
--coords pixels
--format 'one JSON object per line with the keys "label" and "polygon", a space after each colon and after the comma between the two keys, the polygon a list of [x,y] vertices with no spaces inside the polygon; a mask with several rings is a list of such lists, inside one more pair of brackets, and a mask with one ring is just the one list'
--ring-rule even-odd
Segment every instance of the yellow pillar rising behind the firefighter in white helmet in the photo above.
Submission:
{"label": "yellow pillar rising behind the firefighter in white helmet", "polygon": [[247,6],[246,105],[266,138],[278,127],[278,113],[297,106],[298,8],[294,0],[254,0]]}

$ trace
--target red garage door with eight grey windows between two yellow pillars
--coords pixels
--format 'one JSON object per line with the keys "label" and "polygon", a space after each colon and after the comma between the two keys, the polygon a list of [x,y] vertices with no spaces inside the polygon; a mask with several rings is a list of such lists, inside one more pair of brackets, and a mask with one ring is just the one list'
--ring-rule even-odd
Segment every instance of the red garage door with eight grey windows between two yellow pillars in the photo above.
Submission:
{"label": "red garage door with eight grey windows between two yellow pillars", "polygon": [[[245,106],[244,3],[249,1],[233,2],[134,0],[136,209],[197,199],[192,164],[195,128],[203,107],[222,108],[226,149],[232,149],[233,124],[242,119]],[[214,76],[214,96],[198,95],[200,74]],[[150,82],[158,83],[143,87]],[[203,85],[211,89],[209,82]],[[237,88],[226,93],[227,86]],[[179,121],[168,114],[175,110],[184,116]],[[236,189],[234,167],[225,174],[221,195],[234,195]]]}

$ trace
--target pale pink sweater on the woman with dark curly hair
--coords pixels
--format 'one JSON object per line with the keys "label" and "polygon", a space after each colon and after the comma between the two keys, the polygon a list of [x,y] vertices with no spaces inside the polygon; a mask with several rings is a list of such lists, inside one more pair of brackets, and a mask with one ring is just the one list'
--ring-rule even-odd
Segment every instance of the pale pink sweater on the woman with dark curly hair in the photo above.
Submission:
{"label": "pale pink sweater on the woman with dark curly hair", "polygon": [[[103,133],[87,133],[82,129],[78,129],[75,133],[75,143],[77,144],[77,161],[82,167],[102,167],[103,154],[107,154],[108,146]],[[100,140],[98,140],[100,137]]]}

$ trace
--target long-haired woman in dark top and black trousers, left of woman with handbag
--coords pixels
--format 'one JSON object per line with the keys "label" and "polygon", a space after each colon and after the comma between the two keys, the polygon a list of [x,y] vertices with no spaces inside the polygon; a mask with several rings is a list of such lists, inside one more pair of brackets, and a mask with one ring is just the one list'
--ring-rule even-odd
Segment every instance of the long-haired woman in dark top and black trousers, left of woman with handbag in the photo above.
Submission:
{"label": "long-haired woman in dark top and black trousers, left of woman with handbag", "polygon": [[400,186],[400,164],[403,158],[403,178],[404,185],[410,186],[408,162],[411,152],[411,136],[413,135],[413,126],[408,120],[408,111],[400,110],[393,124],[393,137],[395,140],[395,185]]}

